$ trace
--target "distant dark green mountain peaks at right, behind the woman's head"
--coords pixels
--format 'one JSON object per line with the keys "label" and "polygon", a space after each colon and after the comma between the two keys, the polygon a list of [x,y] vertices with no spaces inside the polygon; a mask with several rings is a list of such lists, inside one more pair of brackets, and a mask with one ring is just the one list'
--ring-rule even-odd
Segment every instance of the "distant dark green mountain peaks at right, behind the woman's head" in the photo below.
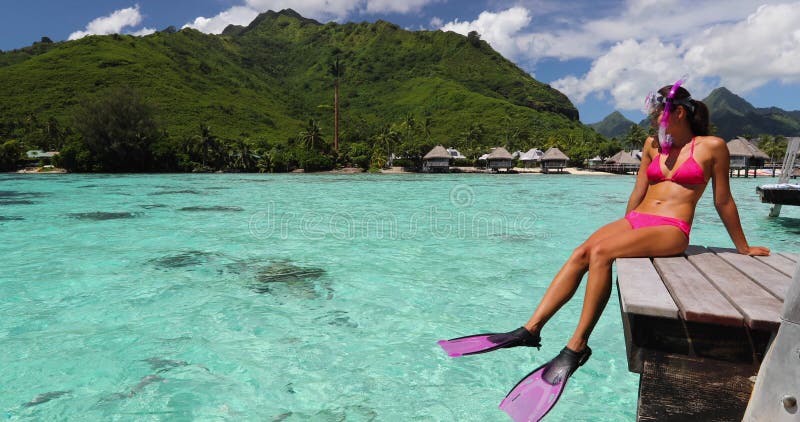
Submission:
{"label": "distant dark green mountain peaks at right, behind the woman's head", "polygon": [[703,102],[711,111],[711,124],[716,127],[716,135],[726,140],[737,136],[800,134],[800,113],[797,111],[756,108],[724,87],[712,91]]}

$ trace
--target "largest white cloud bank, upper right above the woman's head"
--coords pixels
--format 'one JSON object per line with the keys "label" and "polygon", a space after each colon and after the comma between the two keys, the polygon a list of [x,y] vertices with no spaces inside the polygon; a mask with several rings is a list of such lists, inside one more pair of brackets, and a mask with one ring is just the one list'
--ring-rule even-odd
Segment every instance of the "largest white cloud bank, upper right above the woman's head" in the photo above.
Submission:
{"label": "largest white cloud bank, upper right above the woman's head", "polygon": [[772,80],[800,82],[799,20],[800,3],[764,5],[732,23],[697,28],[675,43],[627,39],[595,59],[584,76],[552,85],[578,103],[608,93],[617,108],[633,110],[648,91],[684,74],[696,98],[708,93],[709,80],[738,93]]}

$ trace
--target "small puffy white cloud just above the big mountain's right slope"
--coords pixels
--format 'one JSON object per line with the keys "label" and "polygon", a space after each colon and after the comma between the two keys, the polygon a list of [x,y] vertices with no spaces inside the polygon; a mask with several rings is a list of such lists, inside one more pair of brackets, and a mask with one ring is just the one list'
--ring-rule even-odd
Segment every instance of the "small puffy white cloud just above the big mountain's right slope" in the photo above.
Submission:
{"label": "small puffy white cloud just above the big mountain's right slope", "polygon": [[[524,7],[512,7],[498,13],[482,12],[472,22],[455,20],[441,27],[442,31],[453,31],[467,35],[477,31],[481,39],[488,42],[495,50],[506,57],[519,57],[521,47],[529,46],[528,42],[518,42],[519,32],[531,23],[530,13]],[[524,35],[523,37],[524,38]]]}

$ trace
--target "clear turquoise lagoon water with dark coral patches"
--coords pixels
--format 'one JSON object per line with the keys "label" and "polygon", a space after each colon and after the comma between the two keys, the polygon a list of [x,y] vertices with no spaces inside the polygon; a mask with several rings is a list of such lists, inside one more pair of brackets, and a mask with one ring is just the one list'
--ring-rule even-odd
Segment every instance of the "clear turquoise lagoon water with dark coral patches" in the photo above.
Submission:
{"label": "clear turquoise lagoon water with dark coral patches", "polygon": [[[510,330],[631,176],[0,175],[0,419],[490,421],[555,355],[448,358]],[[800,250],[732,180],[752,244]],[[710,189],[709,189],[710,191]],[[729,246],[702,200],[693,243]],[[550,420],[633,420],[616,293]]]}

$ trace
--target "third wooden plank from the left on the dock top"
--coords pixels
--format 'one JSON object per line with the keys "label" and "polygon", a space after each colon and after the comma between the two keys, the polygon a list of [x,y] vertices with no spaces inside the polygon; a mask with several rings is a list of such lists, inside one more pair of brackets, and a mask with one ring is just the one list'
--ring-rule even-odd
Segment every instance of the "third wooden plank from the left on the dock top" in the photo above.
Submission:
{"label": "third wooden plank from the left on the dock top", "polygon": [[687,251],[689,262],[711,281],[753,330],[778,331],[782,303],[708,249]]}

